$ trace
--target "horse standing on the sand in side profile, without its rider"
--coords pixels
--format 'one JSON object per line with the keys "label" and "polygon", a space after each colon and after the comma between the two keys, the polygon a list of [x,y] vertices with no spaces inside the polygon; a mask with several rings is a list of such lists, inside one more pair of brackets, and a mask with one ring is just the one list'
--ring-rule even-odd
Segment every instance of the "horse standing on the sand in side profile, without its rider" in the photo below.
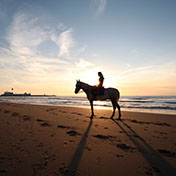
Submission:
{"label": "horse standing on the sand in side profile, without its rider", "polygon": [[93,94],[93,90],[95,89],[95,86],[91,86],[89,84],[81,82],[80,80],[77,80],[76,87],[75,87],[75,94],[77,94],[80,89],[82,89],[86,93],[87,99],[90,102],[91,111],[92,111],[92,115],[90,117],[91,119],[94,117],[93,101],[96,101],[96,100],[105,101],[107,99],[110,99],[112,102],[112,105],[113,105],[113,113],[110,118],[113,119],[113,117],[115,115],[115,110],[116,110],[116,108],[118,108],[118,112],[119,112],[118,120],[121,120],[121,110],[120,110],[120,106],[118,104],[119,98],[120,98],[120,92],[117,89],[106,88],[106,89],[104,89],[103,95],[97,95],[95,97]]}

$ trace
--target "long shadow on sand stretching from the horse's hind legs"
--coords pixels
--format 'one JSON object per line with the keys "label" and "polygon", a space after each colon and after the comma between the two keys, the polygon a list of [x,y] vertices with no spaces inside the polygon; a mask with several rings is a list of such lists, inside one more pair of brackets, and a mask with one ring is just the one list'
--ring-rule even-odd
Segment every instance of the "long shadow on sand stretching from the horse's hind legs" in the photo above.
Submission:
{"label": "long shadow on sand stretching from the horse's hind legs", "polygon": [[[161,176],[175,176],[176,169],[172,167],[156,150],[154,150],[143,138],[141,138],[129,125],[123,121],[112,120],[116,125],[118,125],[123,132],[128,136],[128,138],[136,146],[136,149],[142,154],[145,160],[149,163],[154,172]],[[123,126],[127,127],[132,135],[127,132]]]}

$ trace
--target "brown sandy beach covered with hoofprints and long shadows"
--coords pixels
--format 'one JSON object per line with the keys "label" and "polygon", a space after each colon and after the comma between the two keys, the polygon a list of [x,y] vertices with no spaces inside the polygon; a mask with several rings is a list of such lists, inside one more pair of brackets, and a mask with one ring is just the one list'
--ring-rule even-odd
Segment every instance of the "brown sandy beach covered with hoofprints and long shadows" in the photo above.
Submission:
{"label": "brown sandy beach covered with hoofprints and long shadows", "polygon": [[176,175],[176,115],[0,103],[0,175]]}

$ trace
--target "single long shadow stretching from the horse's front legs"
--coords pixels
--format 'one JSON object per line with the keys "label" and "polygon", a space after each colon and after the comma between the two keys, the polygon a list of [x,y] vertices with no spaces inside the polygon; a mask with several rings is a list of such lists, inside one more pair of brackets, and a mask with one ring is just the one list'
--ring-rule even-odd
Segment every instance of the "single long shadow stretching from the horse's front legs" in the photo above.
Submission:
{"label": "single long shadow stretching from the horse's front legs", "polygon": [[83,154],[83,150],[85,149],[85,144],[86,144],[86,141],[87,141],[87,138],[88,138],[88,134],[89,134],[89,131],[90,131],[90,128],[92,126],[92,119],[90,120],[89,122],[89,125],[85,131],[85,133],[83,134],[83,137],[80,141],[80,143],[78,144],[78,147],[73,155],[73,158],[69,164],[69,168],[68,168],[68,174],[66,175],[76,175],[76,172],[77,172],[77,168],[79,166],[79,163],[80,163],[80,160],[81,160],[81,157],[82,157],[82,154]]}

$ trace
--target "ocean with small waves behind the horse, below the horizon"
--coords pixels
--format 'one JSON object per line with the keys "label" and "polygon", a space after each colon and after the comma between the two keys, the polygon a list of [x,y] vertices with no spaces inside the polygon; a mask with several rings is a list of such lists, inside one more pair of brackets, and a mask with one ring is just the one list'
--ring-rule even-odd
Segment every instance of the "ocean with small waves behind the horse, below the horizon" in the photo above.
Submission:
{"label": "ocean with small waves behind the horse, below the horizon", "polygon": [[[86,97],[80,96],[1,96],[0,102],[89,107]],[[176,115],[176,96],[122,96],[122,110]],[[95,101],[95,109],[112,109],[111,101]]]}

